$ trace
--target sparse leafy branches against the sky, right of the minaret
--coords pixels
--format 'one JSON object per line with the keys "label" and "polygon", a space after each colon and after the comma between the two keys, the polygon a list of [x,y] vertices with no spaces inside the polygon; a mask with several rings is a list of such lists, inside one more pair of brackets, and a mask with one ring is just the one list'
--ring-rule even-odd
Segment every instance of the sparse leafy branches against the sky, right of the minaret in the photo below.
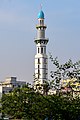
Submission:
{"label": "sparse leafy branches against the sky, right of the minaret", "polygon": [[[50,54],[50,60],[53,65],[55,65],[56,69],[51,71],[51,78],[53,79],[51,82],[53,87],[59,93],[59,89],[61,88],[61,81],[64,79],[75,78],[77,82],[80,83],[80,61],[73,63],[71,59],[69,59],[66,63],[60,64],[58,58],[53,59],[53,56]],[[73,87],[71,85],[73,81],[70,81],[67,86]],[[75,86],[74,86],[75,87]]]}

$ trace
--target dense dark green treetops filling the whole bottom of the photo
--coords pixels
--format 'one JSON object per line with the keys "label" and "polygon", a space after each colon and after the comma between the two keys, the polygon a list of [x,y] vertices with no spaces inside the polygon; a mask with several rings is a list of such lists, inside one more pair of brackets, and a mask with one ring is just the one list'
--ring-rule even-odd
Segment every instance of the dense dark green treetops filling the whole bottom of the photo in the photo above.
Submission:
{"label": "dense dark green treetops filling the whole bottom of the photo", "polygon": [[77,120],[80,116],[80,98],[42,95],[27,86],[4,94],[2,113],[10,119],[22,120]]}

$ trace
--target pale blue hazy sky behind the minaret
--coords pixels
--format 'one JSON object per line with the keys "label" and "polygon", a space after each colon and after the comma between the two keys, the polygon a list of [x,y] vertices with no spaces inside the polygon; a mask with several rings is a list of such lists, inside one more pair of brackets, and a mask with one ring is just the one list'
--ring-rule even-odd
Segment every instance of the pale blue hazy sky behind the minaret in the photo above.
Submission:
{"label": "pale blue hazy sky behind the minaret", "polygon": [[61,63],[80,60],[80,0],[0,0],[0,81],[11,76],[33,81],[40,4],[49,38],[47,54]]}

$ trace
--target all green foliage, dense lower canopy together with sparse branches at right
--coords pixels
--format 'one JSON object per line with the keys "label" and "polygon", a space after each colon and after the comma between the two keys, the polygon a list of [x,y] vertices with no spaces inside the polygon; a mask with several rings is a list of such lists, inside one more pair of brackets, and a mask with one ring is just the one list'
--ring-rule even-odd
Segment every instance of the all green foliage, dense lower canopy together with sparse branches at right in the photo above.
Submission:
{"label": "all green foliage, dense lower canopy together with sparse branches at right", "polygon": [[[59,92],[60,83],[65,78],[77,78],[80,76],[80,61],[73,63],[71,60],[65,64],[60,64],[58,59],[53,59],[56,66],[55,71],[51,71],[52,81],[45,81],[38,90],[29,87],[29,84],[22,88],[16,88],[11,93],[3,94],[1,99],[2,115],[7,115],[10,119],[21,120],[78,120],[80,119],[80,98],[73,98],[71,94],[64,96]],[[36,80],[36,79],[35,79]],[[69,84],[70,85],[70,84]],[[39,90],[43,89],[43,94]],[[48,95],[51,88],[58,92],[56,95]],[[36,92],[37,91],[37,92]]]}

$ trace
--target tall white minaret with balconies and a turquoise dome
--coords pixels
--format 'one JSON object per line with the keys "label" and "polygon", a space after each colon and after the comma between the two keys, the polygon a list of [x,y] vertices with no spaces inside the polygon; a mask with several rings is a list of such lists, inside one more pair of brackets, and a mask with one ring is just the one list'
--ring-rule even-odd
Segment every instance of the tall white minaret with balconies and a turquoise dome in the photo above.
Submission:
{"label": "tall white minaret with balconies and a turquoise dome", "polygon": [[34,85],[43,85],[48,80],[48,57],[46,45],[48,39],[45,38],[46,25],[44,25],[44,13],[41,10],[38,14],[37,37],[35,38],[37,53],[35,55],[35,81]]}

